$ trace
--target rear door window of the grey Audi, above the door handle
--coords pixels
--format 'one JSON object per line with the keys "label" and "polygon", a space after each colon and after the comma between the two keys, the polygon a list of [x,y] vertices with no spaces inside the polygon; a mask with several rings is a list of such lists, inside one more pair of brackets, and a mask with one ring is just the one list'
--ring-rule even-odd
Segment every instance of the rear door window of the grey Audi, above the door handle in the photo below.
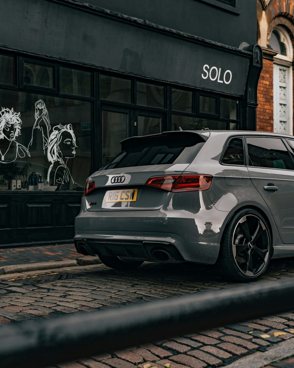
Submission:
{"label": "rear door window of the grey Audi, above the door handle", "polygon": [[247,137],[249,165],[294,170],[290,153],[280,138]]}

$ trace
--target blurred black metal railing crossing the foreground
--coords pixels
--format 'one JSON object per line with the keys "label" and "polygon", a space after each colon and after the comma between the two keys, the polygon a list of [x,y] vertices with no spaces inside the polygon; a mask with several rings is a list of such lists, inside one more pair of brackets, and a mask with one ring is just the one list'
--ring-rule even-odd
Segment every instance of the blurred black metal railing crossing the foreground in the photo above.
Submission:
{"label": "blurred black metal railing crossing the foreground", "polygon": [[294,309],[294,279],[0,328],[1,368],[41,368]]}

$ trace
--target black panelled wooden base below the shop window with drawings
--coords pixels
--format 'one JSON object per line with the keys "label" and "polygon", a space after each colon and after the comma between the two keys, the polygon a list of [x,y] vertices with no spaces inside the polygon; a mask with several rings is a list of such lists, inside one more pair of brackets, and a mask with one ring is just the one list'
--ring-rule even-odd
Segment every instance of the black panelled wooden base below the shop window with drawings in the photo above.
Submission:
{"label": "black panelled wooden base below the shop window with drawings", "polygon": [[81,192],[1,192],[0,244],[73,239],[81,197]]}

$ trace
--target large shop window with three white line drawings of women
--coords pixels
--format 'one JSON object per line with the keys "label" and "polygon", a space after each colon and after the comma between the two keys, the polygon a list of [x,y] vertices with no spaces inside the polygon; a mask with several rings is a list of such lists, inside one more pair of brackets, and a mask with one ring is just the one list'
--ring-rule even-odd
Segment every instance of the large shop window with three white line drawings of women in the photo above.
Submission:
{"label": "large shop window with three white line drawings of women", "polygon": [[83,190],[91,103],[0,89],[2,189]]}

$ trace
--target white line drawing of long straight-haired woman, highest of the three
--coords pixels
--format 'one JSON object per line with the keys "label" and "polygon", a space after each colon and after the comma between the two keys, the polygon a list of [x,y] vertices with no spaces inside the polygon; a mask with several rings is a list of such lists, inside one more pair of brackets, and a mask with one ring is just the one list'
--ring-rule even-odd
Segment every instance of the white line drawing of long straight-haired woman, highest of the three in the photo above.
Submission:
{"label": "white line drawing of long straight-haired woman, highest of the three", "polygon": [[51,129],[50,120],[48,117],[48,111],[43,100],[37,100],[35,102],[35,124],[32,130],[32,139],[29,142],[28,149],[32,145],[33,140],[36,139],[37,129],[42,133],[43,150],[48,147],[49,132]]}

